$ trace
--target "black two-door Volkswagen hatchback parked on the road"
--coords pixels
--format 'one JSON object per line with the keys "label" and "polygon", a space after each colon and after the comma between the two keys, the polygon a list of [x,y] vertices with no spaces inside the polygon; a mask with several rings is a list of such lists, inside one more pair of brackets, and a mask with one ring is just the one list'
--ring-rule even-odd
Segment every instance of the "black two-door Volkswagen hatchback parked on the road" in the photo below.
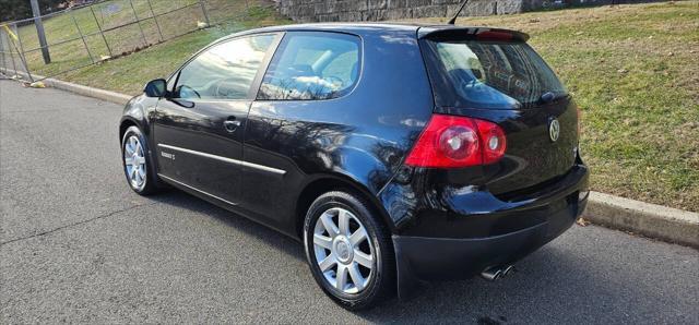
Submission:
{"label": "black two-door Volkswagen hatchback parked on the road", "polygon": [[128,103],[127,180],[300,240],[348,309],[498,278],[588,198],[578,108],[528,38],[402,24],[224,37]]}

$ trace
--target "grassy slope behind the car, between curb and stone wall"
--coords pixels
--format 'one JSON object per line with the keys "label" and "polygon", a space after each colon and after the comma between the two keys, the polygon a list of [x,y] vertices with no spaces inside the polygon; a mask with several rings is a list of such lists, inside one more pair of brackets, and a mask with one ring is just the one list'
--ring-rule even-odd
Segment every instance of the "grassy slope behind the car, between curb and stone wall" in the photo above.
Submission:
{"label": "grassy slope behind the car, between curb and stone wall", "polygon": [[[438,20],[431,20],[438,21]],[[137,94],[203,45],[234,31],[288,23],[269,9],[64,79]],[[699,210],[699,2],[601,7],[462,19],[528,32],[583,110],[592,188]],[[695,62],[695,63],[691,63]]]}

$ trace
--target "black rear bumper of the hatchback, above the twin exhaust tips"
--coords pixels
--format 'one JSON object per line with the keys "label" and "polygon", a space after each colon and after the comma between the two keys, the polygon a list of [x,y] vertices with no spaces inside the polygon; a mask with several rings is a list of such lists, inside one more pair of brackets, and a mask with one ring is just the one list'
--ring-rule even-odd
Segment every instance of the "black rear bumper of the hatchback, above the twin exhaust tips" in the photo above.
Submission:
{"label": "black rear bumper of the hatchback, above the twin exhaust tips", "polygon": [[[393,234],[399,296],[402,299],[412,296],[422,280],[469,278],[489,267],[510,265],[534,252],[570,228],[582,214],[588,202],[587,183],[587,167],[580,165],[545,195],[537,193],[517,202],[498,200],[500,204],[493,209],[482,209],[481,205],[477,214],[435,212],[431,218],[440,224],[438,227],[428,227],[425,220],[430,214],[422,213],[423,221],[416,227]],[[485,194],[478,195],[483,198]],[[469,200],[455,202],[461,203],[446,204],[463,204]],[[449,224],[455,230],[445,230]]]}

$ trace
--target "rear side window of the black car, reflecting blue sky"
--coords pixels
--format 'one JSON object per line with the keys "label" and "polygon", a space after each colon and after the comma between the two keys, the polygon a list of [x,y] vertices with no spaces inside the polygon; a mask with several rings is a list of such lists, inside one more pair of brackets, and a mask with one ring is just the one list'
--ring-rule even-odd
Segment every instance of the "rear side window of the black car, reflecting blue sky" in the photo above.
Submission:
{"label": "rear side window of the black car, reflecting blue sky", "polygon": [[359,37],[288,33],[262,80],[260,100],[320,100],[352,91],[359,77]]}

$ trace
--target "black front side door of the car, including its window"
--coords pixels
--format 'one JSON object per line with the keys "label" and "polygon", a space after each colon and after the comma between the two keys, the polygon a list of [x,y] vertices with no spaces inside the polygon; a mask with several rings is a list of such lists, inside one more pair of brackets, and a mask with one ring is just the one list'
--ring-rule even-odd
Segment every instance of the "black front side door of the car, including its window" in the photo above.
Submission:
{"label": "black front side door of the car, including its window", "polygon": [[215,44],[173,76],[153,121],[163,179],[237,204],[248,110],[280,38],[260,34]]}

